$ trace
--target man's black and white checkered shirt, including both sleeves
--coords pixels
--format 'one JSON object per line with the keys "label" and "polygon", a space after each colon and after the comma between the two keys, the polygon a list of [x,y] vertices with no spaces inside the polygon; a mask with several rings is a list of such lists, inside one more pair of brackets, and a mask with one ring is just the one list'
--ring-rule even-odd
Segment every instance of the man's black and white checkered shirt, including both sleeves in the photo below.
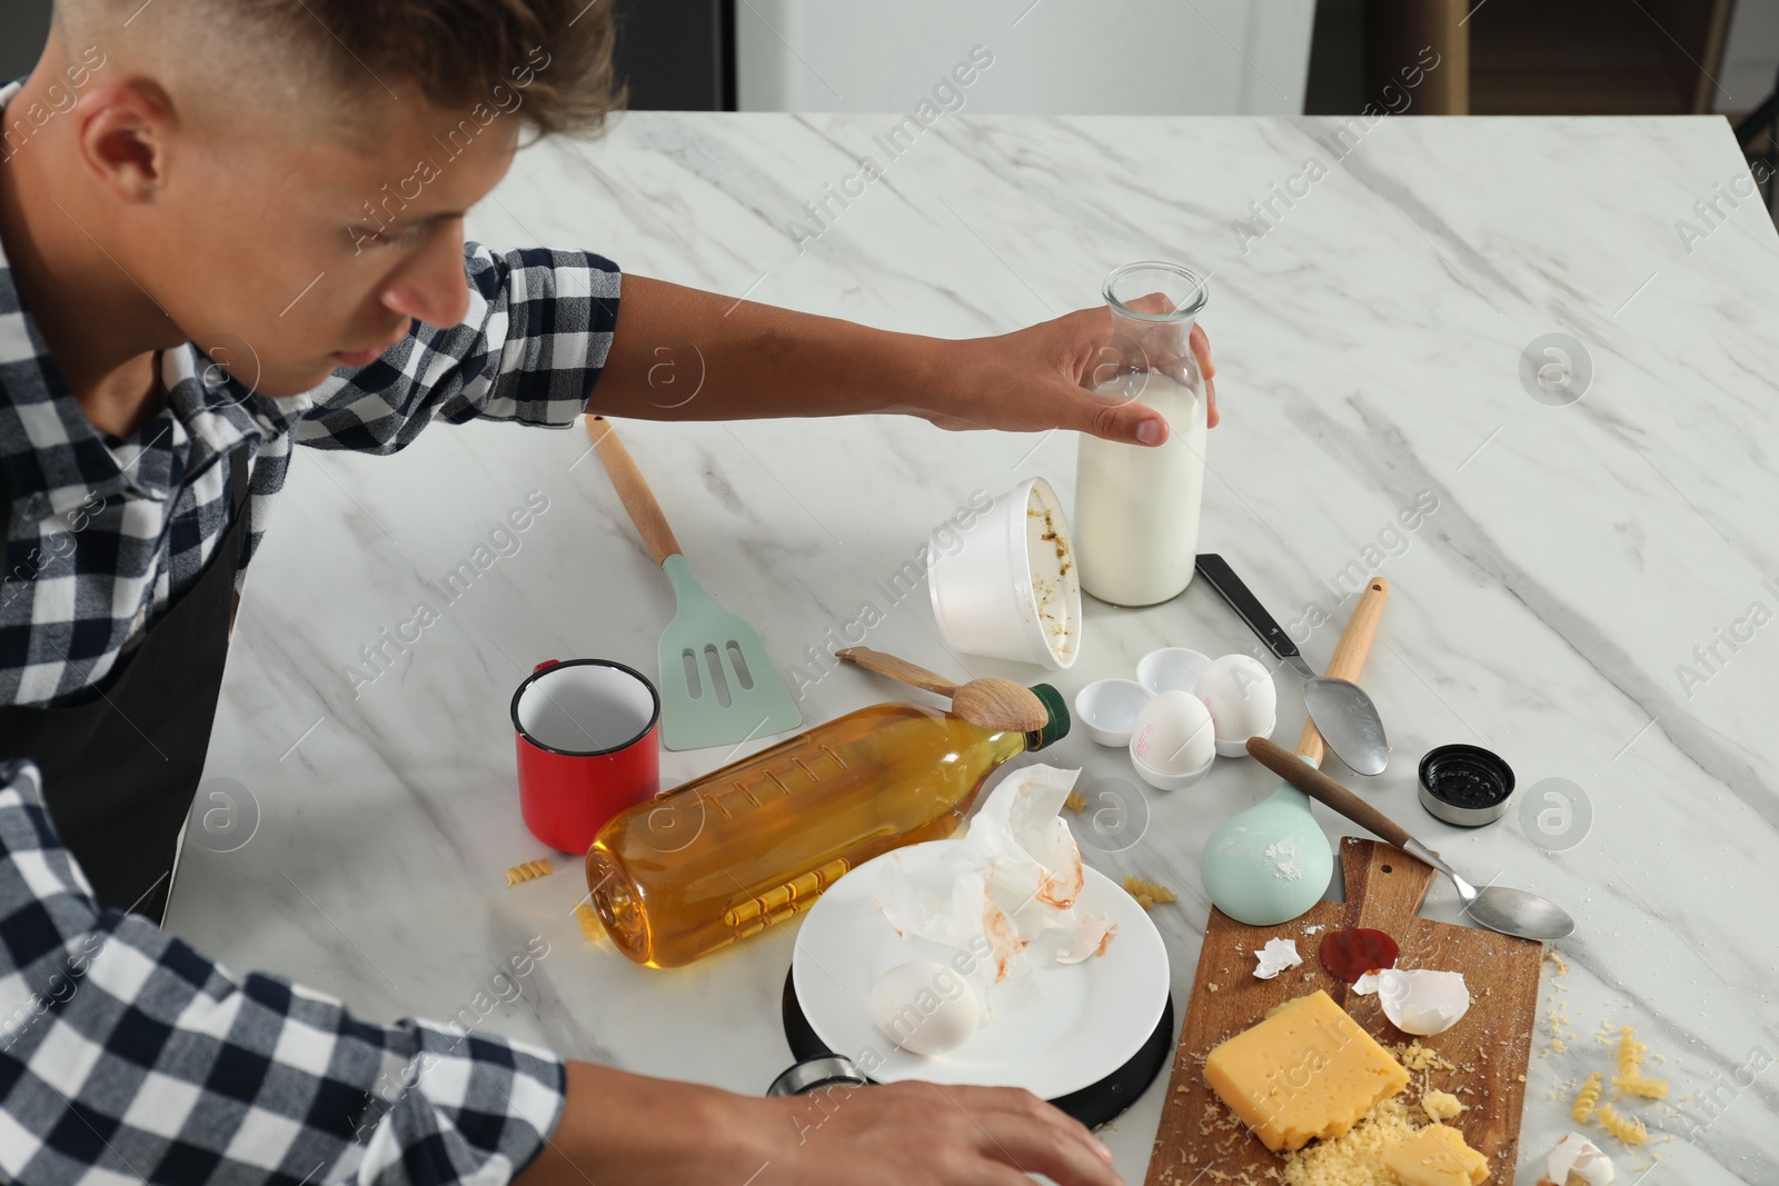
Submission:
{"label": "man's black and white checkered shirt, including both sleeves", "polygon": [[[18,85],[0,87],[0,107]],[[128,439],[87,421],[0,247],[0,704],[94,695],[212,557],[246,445],[246,574],[292,443],[391,453],[432,420],[569,427],[617,322],[589,252],[464,249],[470,313],[269,398],[194,345]],[[100,912],[32,763],[0,766],[0,1181],[503,1182],[562,1106],[553,1053],[235,976],[139,916]]]}

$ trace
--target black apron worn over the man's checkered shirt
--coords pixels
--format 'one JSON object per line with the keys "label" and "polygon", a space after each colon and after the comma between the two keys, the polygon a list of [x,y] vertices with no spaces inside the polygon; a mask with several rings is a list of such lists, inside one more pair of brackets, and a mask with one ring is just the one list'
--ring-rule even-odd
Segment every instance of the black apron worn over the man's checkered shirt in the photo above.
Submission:
{"label": "black apron worn over the man's checkered shirt", "polygon": [[[62,843],[100,907],[162,921],[180,829],[197,793],[228,661],[247,537],[247,446],[229,453],[229,525],[197,583],[73,708],[0,706],[0,759],[30,757]],[[0,530],[11,498],[0,482]],[[78,546],[78,544],[76,544]]]}

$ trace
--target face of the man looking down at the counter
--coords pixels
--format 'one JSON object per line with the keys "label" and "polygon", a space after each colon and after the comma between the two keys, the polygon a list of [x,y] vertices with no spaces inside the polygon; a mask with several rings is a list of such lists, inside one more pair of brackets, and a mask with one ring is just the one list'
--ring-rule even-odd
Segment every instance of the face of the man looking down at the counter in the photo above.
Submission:
{"label": "face of the man looking down at the counter", "polygon": [[[164,194],[130,217],[123,267],[262,395],[365,366],[415,320],[463,320],[463,212],[505,174],[519,135],[493,103],[445,112],[411,89],[340,119],[181,132]],[[368,155],[343,123],[365,119],[379,128]]]}

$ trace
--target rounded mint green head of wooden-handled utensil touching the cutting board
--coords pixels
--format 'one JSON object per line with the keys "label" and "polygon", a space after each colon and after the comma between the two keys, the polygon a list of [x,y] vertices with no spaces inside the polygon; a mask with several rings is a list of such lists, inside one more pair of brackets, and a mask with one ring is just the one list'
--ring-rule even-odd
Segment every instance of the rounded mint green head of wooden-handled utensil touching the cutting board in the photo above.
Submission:
{"label": "rounded mint green head of wooden-handled utensil touching the cutting board", "polygon": [[1199,861],[1211,905],[1249,926],[1304,914],[1322,902],[1332,875],[1334,850],[1295,786],[1224,820]]}

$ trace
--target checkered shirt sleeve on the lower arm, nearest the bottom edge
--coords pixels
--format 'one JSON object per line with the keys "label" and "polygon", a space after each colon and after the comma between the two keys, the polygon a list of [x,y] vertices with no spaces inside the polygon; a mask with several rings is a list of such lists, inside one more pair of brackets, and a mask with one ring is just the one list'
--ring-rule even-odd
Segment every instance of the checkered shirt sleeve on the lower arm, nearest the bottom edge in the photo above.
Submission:
{"label": "checkered shirt sleeve on the lower arm, nearest the bottom edge", "polygon": [[546,1049],[368,1024],[100,912],[37,768],[0,763],[0,1179],[505,1182],[564,1090]]}

